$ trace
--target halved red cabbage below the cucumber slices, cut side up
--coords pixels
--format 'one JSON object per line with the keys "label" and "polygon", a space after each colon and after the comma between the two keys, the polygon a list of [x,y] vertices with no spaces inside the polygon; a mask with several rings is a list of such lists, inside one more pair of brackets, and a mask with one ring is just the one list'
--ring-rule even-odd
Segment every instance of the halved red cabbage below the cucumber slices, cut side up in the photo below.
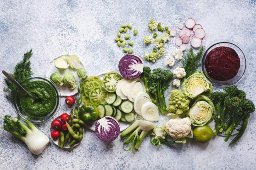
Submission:
{"label": "halved red cabbage below the cucumber slices, cut side up", "polygon": [[115,140],[120,133],[120,126],[114,117],[106,116],[95,123],[95,133],[103,142]]}

